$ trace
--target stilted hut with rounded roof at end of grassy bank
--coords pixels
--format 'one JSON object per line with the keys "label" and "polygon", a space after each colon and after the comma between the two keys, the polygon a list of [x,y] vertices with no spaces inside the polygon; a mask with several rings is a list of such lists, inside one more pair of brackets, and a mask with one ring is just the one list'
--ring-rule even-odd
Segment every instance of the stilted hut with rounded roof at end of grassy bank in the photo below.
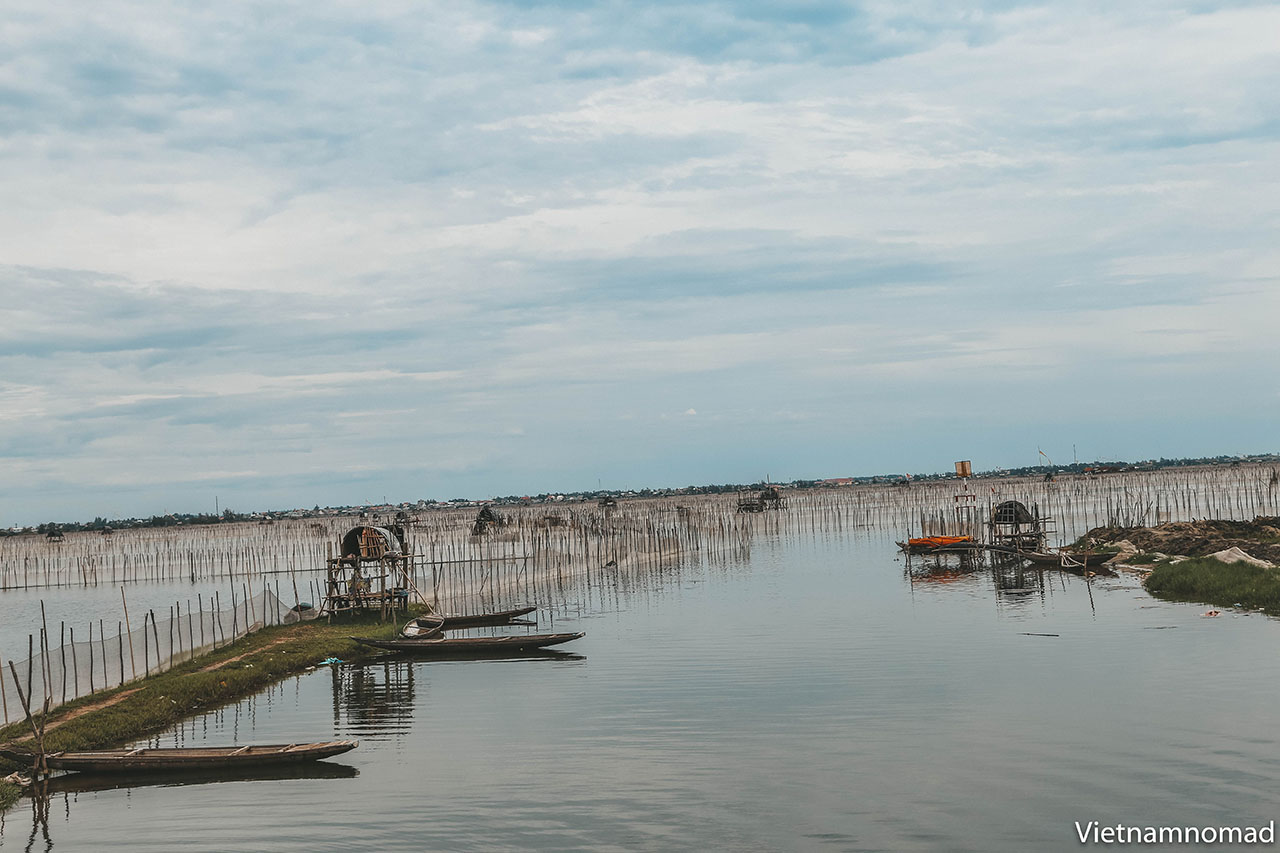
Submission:
{"label": "stilted hut with rounded roof at end of grassy bank", "polygon": [[329,560],[321,612],[376,607],[387,615],[404,607],[411,592],[404,528],[360,525],[342,537],[338,557]]}

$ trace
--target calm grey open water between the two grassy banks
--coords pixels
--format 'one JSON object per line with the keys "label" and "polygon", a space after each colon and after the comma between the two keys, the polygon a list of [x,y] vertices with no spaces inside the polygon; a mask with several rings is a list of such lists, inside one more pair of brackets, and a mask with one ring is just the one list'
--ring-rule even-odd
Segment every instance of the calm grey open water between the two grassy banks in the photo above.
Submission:
{"label": "calm grey open water between the two grassy banks", "polygon": [[1280,818],[1280,622],[1021,587],[796,538],[568,588],[541,628],[575,654],[321,667],[159,739],[360,739],[335,768],[58,794],[0,849],[1065,850],[1076,820]]}

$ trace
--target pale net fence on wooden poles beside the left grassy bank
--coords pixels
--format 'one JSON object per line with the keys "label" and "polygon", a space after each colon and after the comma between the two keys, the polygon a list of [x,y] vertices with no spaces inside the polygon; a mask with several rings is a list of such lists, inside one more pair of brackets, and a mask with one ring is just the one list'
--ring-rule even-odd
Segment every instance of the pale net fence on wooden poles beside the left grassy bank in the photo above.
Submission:
{"label": "pale net fence on wooden poles beside the left grassy bank", "polygon": [[[38,712],[46,699],[52,708],[97,690],[164,672],[269,625],[315,619],[317,611],[291,607],[274,592],[264,589],[228,608],[219,610],[211,605],[207,610],[183,611],[178,605],[170,613],[159,619],[154,611],[147,611],[142,625],[132,630],[123,621],[109,625],[99,620],[79,634],[72,629],[67,642],[58,637],[31,635],[28,648],[22,649],[28,654],[22,660],[10,653],[17,649],[0,649],[0,715],[4,722],[24,717],[19,688],[28,697],[32,712]],[[55,642],[58,646],[54,646]]]}

